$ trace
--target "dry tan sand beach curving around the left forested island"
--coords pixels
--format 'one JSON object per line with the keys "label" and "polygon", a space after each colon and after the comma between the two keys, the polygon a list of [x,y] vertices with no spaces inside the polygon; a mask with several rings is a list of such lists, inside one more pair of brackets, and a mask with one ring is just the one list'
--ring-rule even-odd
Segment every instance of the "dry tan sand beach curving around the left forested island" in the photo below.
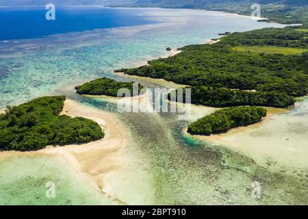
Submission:
{"label": "dry tan sand beach curving around the left forested island", "polygon": [[[105,132],[105,137],[87,144],[47,146],[40,151],[3,151],[0,153],[0,160],[21,156],[60,158],[70,165],[82,179],[93,185],[98,192],[103,193],[106,198],[117,205],[129,204],[127,203],[129,198],[125,200],[125,197],[123,200],[117,196],[113,185],[115,179],[120,179],[124,175],[123,172],[131,171],[129,169],[131,166],[136,168],[137,164],[133,164],[133,162],[138,162],[129,162],[130,159],[134,159],[127,150],[128,143],[132,144],[129,130],[120,123],[114,114],[81,105],[70,99],[66,99],[64,102],[61,114],[94,120]],[[130,158],[128,159],[128,157]],[[135,186],[134,190],[140,187],[138,184]]]}

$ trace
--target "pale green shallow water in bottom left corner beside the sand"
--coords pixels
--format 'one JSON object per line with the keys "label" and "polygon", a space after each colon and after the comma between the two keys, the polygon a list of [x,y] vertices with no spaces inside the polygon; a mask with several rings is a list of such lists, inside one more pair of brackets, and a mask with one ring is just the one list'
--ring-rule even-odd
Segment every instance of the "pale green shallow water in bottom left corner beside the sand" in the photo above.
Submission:
{"label": "pale green shallow water in bottom left corner beside the sand", "polygon": [[[61,159],[14,157],[0,166],[0,205],[114,205]],[[55,198],[46,196],[48,182]]]}

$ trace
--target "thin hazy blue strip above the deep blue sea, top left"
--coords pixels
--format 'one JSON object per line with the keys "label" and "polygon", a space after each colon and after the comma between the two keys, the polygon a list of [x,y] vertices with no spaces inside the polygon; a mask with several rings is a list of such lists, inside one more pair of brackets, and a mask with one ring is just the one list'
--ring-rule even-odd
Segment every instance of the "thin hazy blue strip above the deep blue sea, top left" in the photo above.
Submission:
{"label": "thin hazy blue strip above the deep blue sea, top left", "polygon": [[122,5],[134,3],[136,0],[0,0],[1,6],[12,5]]}

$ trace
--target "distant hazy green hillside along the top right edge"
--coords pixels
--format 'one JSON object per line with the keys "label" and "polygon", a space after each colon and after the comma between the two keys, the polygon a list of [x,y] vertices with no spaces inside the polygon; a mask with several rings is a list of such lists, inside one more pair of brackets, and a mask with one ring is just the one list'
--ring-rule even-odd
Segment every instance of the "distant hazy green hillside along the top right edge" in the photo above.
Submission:
{"label": "distant hazy green hillside along the top right edge", "polygon": [[261,17],[268,18],[264,21],[308,25],[307,0],[138,0],[128,6],[194,8],[250,16],[253,12],[251,5],[254,3],[261,5]]}

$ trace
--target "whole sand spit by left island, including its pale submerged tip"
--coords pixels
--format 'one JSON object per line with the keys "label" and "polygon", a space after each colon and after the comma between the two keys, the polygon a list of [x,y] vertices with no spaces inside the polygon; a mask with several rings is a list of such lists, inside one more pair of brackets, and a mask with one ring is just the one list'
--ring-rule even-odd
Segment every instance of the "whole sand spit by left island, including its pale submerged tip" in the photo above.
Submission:
{"label": "whole sand spit by left island, including its pale submerged tip", "polygon": [[151,175],[142,166],[142,155],[134,147],[129,130],[120,120],[114,114],[70,99],[64,102],[62,114],[94,120],[105,132],[105,138],[88,144],[47,146],[40,151],[1,152],[0,159],[16,156],[59,157],[115,204],[151,203]]}

